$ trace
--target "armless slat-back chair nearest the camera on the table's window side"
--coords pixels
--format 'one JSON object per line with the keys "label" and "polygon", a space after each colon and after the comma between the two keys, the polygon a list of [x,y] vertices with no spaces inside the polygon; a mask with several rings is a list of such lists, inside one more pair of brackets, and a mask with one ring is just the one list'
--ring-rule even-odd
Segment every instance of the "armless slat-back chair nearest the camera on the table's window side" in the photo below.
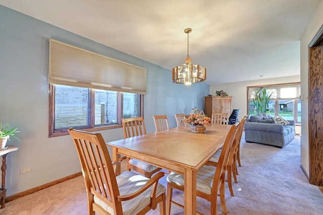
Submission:
{"label": "armless slat-back chair nearest the camera on the table's window side", "polygon": [[[146,127],[142,117],[122,118],[122,127],[125,138],[146,134]],[[147,178],[160,171],[161,168],[127,157],[127,169],[141,173]]]}

